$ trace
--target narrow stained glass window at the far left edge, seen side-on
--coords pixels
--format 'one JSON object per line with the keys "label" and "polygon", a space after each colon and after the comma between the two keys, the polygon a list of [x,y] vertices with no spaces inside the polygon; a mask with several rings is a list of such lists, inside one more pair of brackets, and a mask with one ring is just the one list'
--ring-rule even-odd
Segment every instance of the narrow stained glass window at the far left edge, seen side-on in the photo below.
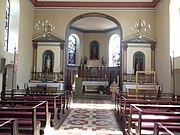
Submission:
{"label": "narrow stained glass window at the far left edge, seen side-on", "polygon": [[4,29],[4,51],[8,51],[8,38],[9,38],[9,17],[10,17],[10,2],[6,0],[6,18]]}

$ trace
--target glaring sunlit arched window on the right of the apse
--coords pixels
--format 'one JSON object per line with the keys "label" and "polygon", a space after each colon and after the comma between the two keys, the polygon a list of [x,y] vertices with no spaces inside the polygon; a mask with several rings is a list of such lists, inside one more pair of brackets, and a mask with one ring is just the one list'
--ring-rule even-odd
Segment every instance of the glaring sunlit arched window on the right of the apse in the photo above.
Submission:
{"label": "glaring sunlit arched window on the right of the apse", "polygon": [[109,66],[120,64],[120,36],[113,34],[109,40]]}

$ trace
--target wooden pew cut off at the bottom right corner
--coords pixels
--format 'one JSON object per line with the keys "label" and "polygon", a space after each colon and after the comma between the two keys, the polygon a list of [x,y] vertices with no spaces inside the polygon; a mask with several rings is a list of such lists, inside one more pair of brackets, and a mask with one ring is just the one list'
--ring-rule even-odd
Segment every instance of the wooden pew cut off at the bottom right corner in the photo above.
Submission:
{"label": "wooden pew cut off at the bottom right corner", "polygon": [[154,124],[154,135],[178,135],[180,134],[180,123],[155,123]]}

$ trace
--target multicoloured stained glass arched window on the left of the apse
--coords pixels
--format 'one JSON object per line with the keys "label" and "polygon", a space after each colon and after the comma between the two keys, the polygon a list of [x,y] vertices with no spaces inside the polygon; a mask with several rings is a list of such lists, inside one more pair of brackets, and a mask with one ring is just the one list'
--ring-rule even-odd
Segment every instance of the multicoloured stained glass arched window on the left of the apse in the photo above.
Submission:
{"label": "multicoloured stained glass arched window on the left of the apse", "polygon": [[69,36],[69,44],[68,44],[68,64],[75,65],[76,64],[76,43],[77,40],[75,36]]}

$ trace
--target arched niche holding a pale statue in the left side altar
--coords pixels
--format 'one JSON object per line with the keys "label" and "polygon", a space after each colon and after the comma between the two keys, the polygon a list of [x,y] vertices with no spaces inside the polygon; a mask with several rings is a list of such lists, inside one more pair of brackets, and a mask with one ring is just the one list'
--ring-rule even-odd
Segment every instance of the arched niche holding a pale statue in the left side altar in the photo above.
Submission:
{"label": "arched niche holding a pale statue in the left side altar", "polygon": [[45,73],[53,73],[54,53],[51,50],[46,50],[43,53],[42,71]]}

